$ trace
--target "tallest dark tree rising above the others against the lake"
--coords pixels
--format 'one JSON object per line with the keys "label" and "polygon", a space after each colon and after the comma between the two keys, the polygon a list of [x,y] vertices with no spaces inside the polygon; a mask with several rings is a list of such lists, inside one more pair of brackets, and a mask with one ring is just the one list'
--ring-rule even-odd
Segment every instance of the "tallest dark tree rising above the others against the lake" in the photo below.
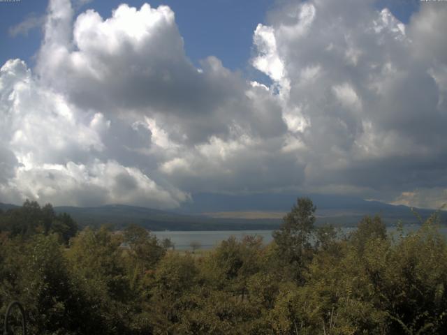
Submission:
{"label": "tallest dark tree rising above the others against the lake", "polygon": [[310,238],[314,231],[316,207],[309,198],[298,198],[279,230],[273,232],[279,256],[291,265],[295,279],[302,281],[302,269],[312,258]]}

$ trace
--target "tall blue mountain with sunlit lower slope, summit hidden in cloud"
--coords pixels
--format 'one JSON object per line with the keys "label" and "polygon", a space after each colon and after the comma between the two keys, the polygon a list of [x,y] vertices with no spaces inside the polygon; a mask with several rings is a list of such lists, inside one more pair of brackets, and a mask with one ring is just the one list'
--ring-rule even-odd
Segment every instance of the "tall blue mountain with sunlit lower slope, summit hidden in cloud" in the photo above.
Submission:
{"label": "tall blue mountain with sunlit lower slope, summit hidden in cloud", "polygon": [[[254,194],[254,195],[223,195],[215,193],[198,193],[193,195],[193,202],[183,204],[177,213],[199,214],[230,217],[243,216],[237,212],[272,212],[272,217],[278,212],[287,213],[296,199],[303,195],[291,194]],[[332,223],[334,225],[356,225],[365,216],[380,215],[391,225],[398,220],[404,223],[418,223],[418,218],[411,207],[386,204],[378,201],[367,201],[345,195],[305,195],[316,205],[317,223]],[[434,213],[433,209],[414,209],[423,219]],[[227,213],[228,215],[224,215]],[[265,216],[265,215],[264,215]],[[262,216],[260,216],[262,217]],[[441,222],[446,223],[447,212],[441,211]]]}

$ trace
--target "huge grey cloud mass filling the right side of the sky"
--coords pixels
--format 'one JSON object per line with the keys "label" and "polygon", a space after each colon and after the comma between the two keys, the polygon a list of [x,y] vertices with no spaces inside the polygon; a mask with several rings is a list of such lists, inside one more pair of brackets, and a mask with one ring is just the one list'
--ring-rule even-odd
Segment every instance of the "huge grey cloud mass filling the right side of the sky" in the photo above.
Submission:
{"label": "huge grey cloud mass filling the right side of the sky", "polygon": [[284,68],[276,82],[309,121],[306,180],[319,191],[351,186],[388,200],[445,188],[446,6],[423,4],[405,26],[373,5],[291,2],[257,29],[270,45],[263,57]]}

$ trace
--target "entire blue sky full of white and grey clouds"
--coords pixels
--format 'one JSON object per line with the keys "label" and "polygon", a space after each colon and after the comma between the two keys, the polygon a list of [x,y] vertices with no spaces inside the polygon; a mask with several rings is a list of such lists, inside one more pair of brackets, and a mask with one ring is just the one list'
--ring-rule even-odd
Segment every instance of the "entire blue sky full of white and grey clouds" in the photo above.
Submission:
{"label": "entire blue sky full of white and grey clouds", "polygon": [[447,202],[447,2],[0,2],[0,202]]}

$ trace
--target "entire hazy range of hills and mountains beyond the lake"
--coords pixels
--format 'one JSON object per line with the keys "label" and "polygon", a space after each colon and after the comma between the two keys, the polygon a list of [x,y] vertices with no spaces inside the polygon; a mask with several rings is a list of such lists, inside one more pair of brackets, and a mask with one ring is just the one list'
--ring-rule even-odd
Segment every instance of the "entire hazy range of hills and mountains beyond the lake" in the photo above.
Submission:
{"label": "entire hazy range of hills and mountains beyond the lake", "polygon": [[[357,225],[362,217],[380,215],[387,225],[419,223],[410,207],[335,195],[308,195],[316,204],[317,224]],[[276,229],[284,214],[291,210],[297,195],[257,194],[221,195],[199,193],[193,202],[175,211],[111,204],[98,207],[54,207],[58,213],[70,214],[83,226],[111,225],[122,229],[131,223],[149,230],[270,230]],[[15,208],[1,204],[0,209]],[[434,210],[415,209],[425,220]],[[447,212],[441,211],[441,223],[447,223]]]}

